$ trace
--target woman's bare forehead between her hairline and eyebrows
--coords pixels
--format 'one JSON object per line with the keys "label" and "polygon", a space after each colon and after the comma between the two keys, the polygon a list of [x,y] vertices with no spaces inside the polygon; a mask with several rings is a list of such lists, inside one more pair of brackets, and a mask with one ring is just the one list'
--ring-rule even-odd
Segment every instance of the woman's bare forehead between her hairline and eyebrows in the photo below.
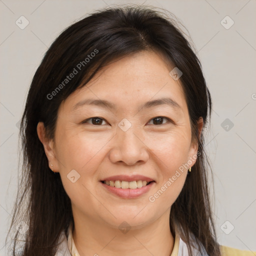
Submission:
{"label": "woman's bare forehead between her hairline and eyebrows", "polygon": [[170,68],[160,54],[143,51],[114,60],[65,100],[73,108],[86,99],[107,100],[127,109],[137,103],[171,97],[181,108],[186,106],[178,80],[169,75]]}

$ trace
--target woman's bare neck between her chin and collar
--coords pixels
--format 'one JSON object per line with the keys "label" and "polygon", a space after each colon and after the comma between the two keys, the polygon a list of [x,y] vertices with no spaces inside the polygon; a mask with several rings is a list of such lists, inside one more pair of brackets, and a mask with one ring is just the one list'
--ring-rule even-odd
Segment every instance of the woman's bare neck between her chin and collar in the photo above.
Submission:
{"label": "woman's bare neck between her chin and collar", "polygon": [[80,256],[169,256],[174,244],[169,228],[169,210],[151,223],[132,226],[126,233],[109,224],[75,214],[72,235],[77,251]]}

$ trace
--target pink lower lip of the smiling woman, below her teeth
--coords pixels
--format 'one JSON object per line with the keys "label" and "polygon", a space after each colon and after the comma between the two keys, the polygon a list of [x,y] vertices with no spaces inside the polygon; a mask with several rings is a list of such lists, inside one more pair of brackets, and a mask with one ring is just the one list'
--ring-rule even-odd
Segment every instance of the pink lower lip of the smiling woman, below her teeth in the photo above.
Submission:
{"label": "pink lower lip of the smiling woman, below her teeth", "polygon": [[131,189],[131,188],[117,188],[114,186],[109,186],[106,185],[105,183],[100,182],[108,191],[118,195],[119,197],[122,198],[137,198],[140,195],[146,193],[151,187],[152,185],[155,183],[154,181],[150,182],[148,185],[146,186],[142,186],[140,188],[135,188],[135,189]]}

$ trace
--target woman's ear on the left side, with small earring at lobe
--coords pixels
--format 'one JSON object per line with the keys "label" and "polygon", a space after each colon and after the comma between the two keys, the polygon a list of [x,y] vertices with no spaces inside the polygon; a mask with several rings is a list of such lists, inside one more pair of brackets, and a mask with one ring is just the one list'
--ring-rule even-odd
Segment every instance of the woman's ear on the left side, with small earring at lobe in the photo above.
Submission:
{"label": "woman's ear on the left side, with small earring at lobe", "polygon": [[56,153],[54,151],[54,142],[52,139],[47,138],[43,122],[37,123],[36,131],[37,131],[38,138],[43,144],[44,152],[48,159],[49,168],[54,172],[58,172],[59,166],[56,158]]}

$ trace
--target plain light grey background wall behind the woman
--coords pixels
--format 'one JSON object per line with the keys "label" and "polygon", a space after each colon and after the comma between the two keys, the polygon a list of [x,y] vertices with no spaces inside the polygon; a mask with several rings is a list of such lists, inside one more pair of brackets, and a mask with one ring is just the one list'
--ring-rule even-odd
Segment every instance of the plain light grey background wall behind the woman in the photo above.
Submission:
{"label": "plain light grey background wall behind the woman", "polygon": [[[17,123],[33,74],[65,27],[125,3],[165,8],[189,31],[213,99],[206,150],[218,241],[256,250],[255,0],[0,0],[0,255],[17,189]],[[23,29],[20,16],[29,22]]]}

